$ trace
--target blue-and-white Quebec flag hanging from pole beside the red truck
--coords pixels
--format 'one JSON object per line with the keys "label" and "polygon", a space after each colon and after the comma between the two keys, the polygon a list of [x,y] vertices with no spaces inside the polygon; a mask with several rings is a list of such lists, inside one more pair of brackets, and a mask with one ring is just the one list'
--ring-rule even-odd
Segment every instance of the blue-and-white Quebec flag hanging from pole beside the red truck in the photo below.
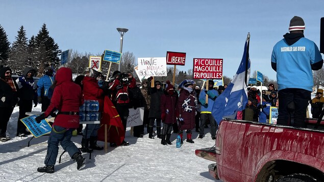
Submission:
{"label": "blue-and-white Quebec flag hanging from pole beside the red truck", "polygon": [[[250,35],[248,35],[250,37]],[[215,100],[212,115],[217,124],[220,123],[224,116],[233,116],[237,111],[245,109],[247,103],[247,89],[245,83],[245,72],[247,71],[247,83],[250,78],[250,58],[248,56],[248,44],[250,39],[247,38],[244,45],[244,53],[232,82]],[[246,67],[247,64],[247,67]],[[234,118],[234,117],[228,117]]]}

